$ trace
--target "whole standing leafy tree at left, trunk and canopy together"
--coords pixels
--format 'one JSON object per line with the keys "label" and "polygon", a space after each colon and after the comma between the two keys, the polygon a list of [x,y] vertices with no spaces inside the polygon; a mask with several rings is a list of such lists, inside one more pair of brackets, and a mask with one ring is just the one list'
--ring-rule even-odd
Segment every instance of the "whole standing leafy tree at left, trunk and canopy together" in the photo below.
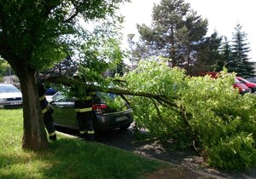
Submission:
{"label": "whole standing leafy tree at left, trunk and canopy together", "polygon": [[[20,79],[24,109],[23,148],[41,150],[48,147],[35,73],[54,66],[68,55],[88,51],[86,46],[81,49],[81,44],[93,37],[84,31],[81,20],[85,24],[91,20],[116,20],[115,24],[118,24],[121,19],[114,10],[125,1],[0,1],[0,55]],[[100,49],[101,44],[92,46],[96,48],[97,45]],[[115,55],[119,54],[117,50],[113,51]],[[87,56],[88,53],[79,58]],[[84,58],[84,63],[87,61],[90,59]]]}

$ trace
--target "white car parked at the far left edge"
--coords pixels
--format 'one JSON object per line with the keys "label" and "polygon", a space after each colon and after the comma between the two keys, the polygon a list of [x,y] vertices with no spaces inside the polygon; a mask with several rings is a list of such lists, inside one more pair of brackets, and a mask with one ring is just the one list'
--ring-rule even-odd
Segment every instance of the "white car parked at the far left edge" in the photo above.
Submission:
{"label": "white car parked at the far left edge", "polygon": [[22,94],[13,84],[0,84],[0,107],[22,107]]}

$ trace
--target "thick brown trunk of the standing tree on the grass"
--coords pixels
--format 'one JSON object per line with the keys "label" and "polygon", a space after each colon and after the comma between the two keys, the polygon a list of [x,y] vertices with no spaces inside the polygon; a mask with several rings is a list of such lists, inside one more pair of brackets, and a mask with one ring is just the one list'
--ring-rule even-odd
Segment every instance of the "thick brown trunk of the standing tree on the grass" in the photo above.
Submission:
{"label": "thick brown trunk of the standing tree on the grass", "polygon": [[25,73],[18,72],[23,96],[23,128],[22,148],[39,151],[49,146],[44,120],[38,98],[38,88],[31,69]]}

